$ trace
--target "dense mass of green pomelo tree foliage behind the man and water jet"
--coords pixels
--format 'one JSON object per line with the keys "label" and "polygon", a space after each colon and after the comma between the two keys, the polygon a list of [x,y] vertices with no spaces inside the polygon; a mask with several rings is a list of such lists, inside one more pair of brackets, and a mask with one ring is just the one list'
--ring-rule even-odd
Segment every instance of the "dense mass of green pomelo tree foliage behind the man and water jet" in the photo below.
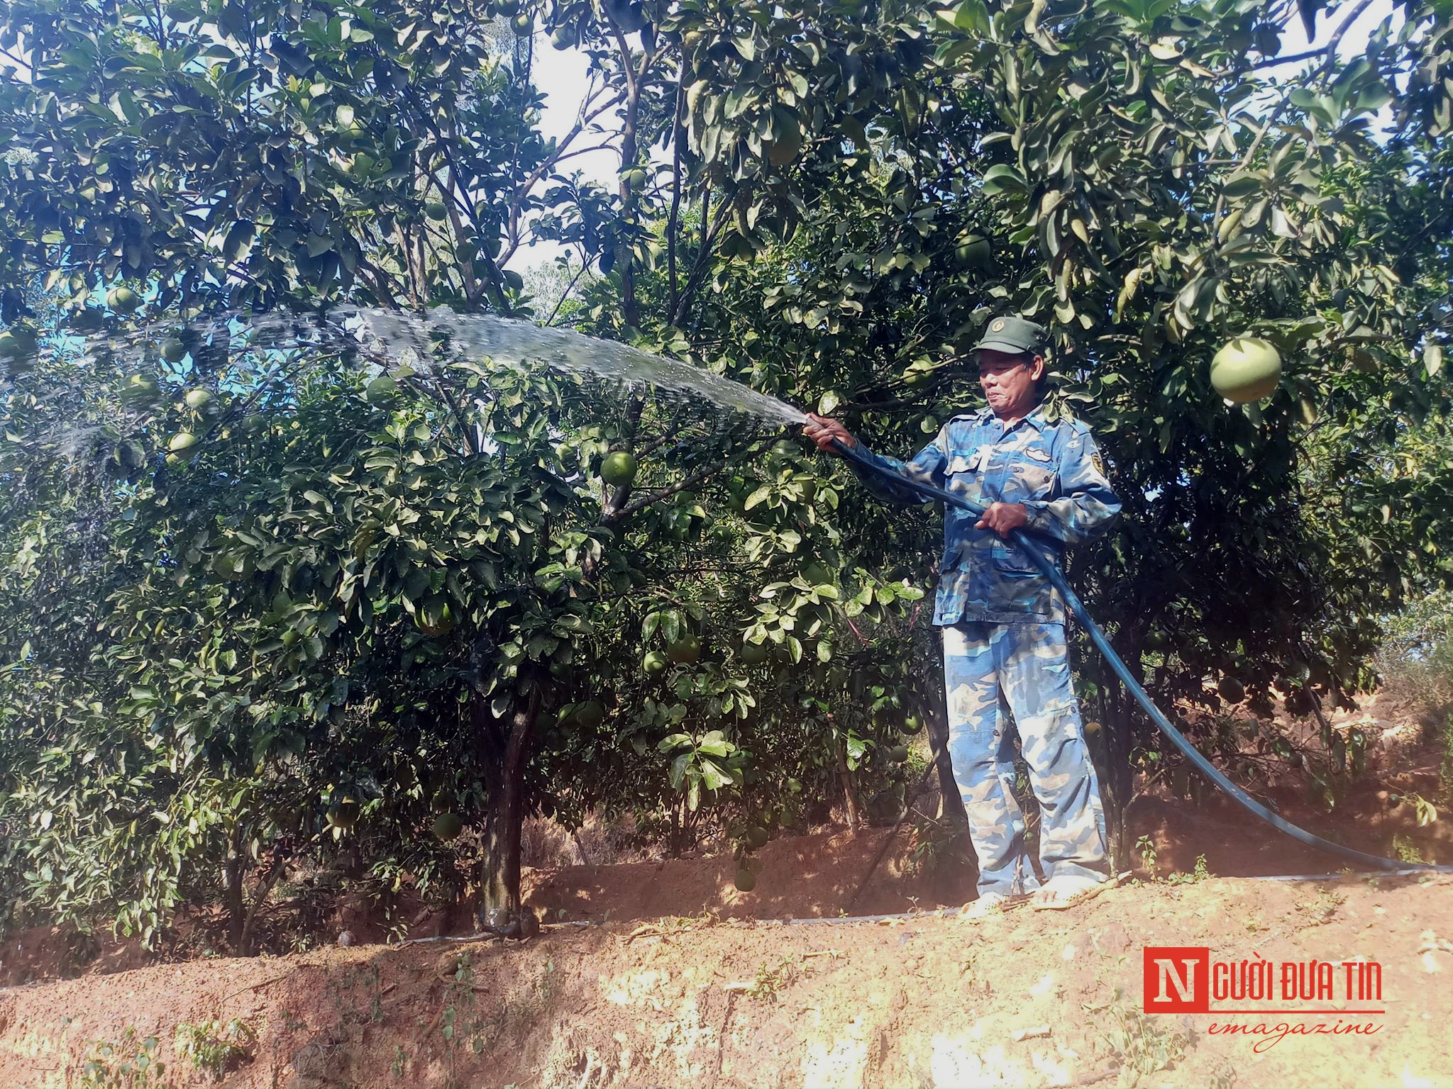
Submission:
{"label": "dense mass of green pomelo tree foliage behind the man and water jet", "polygon": [[[1052,409],[1094,427],[1126,501],[1069,575],[1167,701],[1228,677],[1252,707],[1337,698],[1375,617],[1447,581],[1437,4],[1302,70],[1273,67],[1290,13],[1250,0],[527,10],[600,73],[575,136],[618,134],[612,189],[539,135],[542,41],[501,55],[488,4],[6,9],[29,71],[0,84],[3,351],[61,350],[7,363],[3,393],[0,473],[28,485],[0,610],[12,899],[145,929],[216,897],[246,945],[269,845],[455,889],[475,849],[507,918],[526,812],[745,844],[901,790],[911,714],[942,748],[931,510],[651,392],[384,375],[308,322],[292,354],[189,324],[529,315],[509,264],[532,235],[590,270],[538,317],[891,453],[978,402],[963,351],[991,314],[1052,327]],[[139,348],[60,335],[158,321]],[[1210,360],[1248,335],[1284,373],[1231,409]],[[607,482],[612,450],[634,465]],[[1158,745],[1080,671],[1123,851]],[[466,835],[434,833],[449,815]]]}

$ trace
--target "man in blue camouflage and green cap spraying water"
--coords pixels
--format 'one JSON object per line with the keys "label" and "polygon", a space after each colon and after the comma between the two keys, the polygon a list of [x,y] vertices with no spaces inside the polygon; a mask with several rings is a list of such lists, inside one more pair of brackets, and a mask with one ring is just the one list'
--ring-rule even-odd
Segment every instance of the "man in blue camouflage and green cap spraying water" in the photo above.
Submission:
{"label": "man in blue camouflage and green cap spraying water", "polygon": [[[944,510],[933,620],[943,629],[949,755],[979,860],[978,910],[1026,894],[1036,906],[1064,906],[1109,877],[1100,786],[1069,684],[1064,597],[1010,533],[1026,529],[1058,562],[1065,544],[1104,533],[1120,501],[1090,430],[1051,421],[1040,407],[1043,344],[1035,322],[994,318],[975,346],[988,407],[953,417],[908,463],[870,453],[835,420],[809,414],[804,427],[824,452],[838,440],[987,508],[978,520]],[[907,484],[854,469],[889,502],[924,501]],[[1042,886],[1024,852],[1004,704],[1039,799]]]}

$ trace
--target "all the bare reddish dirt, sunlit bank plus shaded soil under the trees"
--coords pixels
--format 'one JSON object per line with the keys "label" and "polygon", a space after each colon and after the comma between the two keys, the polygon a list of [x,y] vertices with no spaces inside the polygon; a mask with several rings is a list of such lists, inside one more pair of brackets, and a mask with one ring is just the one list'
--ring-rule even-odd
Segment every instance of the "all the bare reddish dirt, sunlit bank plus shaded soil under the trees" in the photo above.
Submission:
{"label": "all the bare reddish dirt, sunlit bank plus shaded soil under the trees", "polygon": [[[1453,862],[1450,822],[1420,828],[1396,802],[1437,784],[1399,711],[1343,714],[1377,745],[1337,812],[1295,783],[1264,796],[1350,847]],[[753,893],[732,887],[729,854],[530,868],[545,925],[525,942],[433,937],[466,929],[461,910],[423,912],[413,941],[385,945],[346,905],[331,925],[352,945],[286,957],[154,963],[125,942],[12,934],[0,1089],[1453,1086],[1453,876],[1255,880],[1340,862],[1216,797],[1152,793],[1132,815],[1154,873],[1062,912],[962,918],[968,876],[915,865],[923,829],[828,828],[779,832]],[[1194,878],[1197,855],[1210,877]],[[837,921],[885,913],[910,915]],[[1380,998],[1145,1013],[1145,947],[1276,971],[1325,961],[1338,989],[1344,961],[1375,961]],[[138,1056],[164,1070],[138,1073]]]}

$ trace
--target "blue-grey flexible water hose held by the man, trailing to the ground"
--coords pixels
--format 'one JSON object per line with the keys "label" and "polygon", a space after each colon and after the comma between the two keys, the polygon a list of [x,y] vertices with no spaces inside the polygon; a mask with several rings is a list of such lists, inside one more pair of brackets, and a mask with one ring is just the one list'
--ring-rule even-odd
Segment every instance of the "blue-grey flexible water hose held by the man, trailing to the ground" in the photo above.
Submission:
{"label": "blue-grey flexible water hose held by the man, trailing to the ground", "polygon": [[[955,495],[953,492],[944,491],[943,488],[934,488],[933,485],[928,484],[918,484],[917,481],[911,481],[899,472],[895,472],[886,466],[869,460],[857,450],[849,449],[847,446],[843,446],[843,443],[840,441],[834,440],[833,446],[837,449],[838,453],[841,453],[849,460],[862,465],[865,469],[869,469],[878,473],[879,476],[886,476],[895,484],[901,484],[923,495],[931,495],[933,498],[952,504],[953,507],[958,507],[962,511],[968,511],[969,514],[974,515],[984,514],[984,507],[979,507],[975,502],[969,502],[962,495]],[[1382,855],[1372,855],[1367,854],[1366,851],[1354,851],[1350,847],[1334,844],[1331,839],[1322,839],[1322,836],[1314,835],[1312,832],[1308,832],[1305,828],[1298,828],[1290,820],[1286,820],[1284,817],[1280,817],[1276,813],[1273,813],[1270,809],[1263,806],[1254,797],[1247,794],[1247,791],[1244,791],[1241,787],[1238,787],[1235,783],[1226,778],[1216,768],[1215,764],[1206,759],[1200,754],[1200,751],[1186,739],[1186,736],[1180,730],[1171,726],[1170,719],[1161,714],[1159,709],[1151,701],[1151,697],[1146,694],[1145,688],[1141,687],[1141,682],[1135,680],[1135,677],[1126,668],[1125,662],[1120,661],[1120,655],[1117,655],[1114,652],[1114,648],[1110,646],[1110,640],[1106,637],[1104,632],[1100,630],[1100,624],[1094,621],[1094,619],[1085,610],[1084,604],[1080,601],[1080,597],[1075,594],[1075,591],[1069,588],[1069,584],[1065,581],[1065,576],[1059,574],[1059,568],[1055,566],[1055,562],[1048,555],[1045,555],[1045,552],[1039,547],[1039,544],[1036,544],[1023,530],[1014,530],[1010,534],[1010,537],[1016,544],[1024,549],[1026,553],[1029,553],[1030,559],[1035,560],[1035,566],[1037,566],[1045,574],[1045,578],[1048,578],[1053,584],[1055,590],[1058,590],[1061,594],[1065,595],[1065,601],[1068,603],[1069,610],[1075,614],[1075,619],[1085,629],[1085,632],[1088,632],[1091,642],[1096,645],[1100,653],[1104,655],[1104,659],[1110,664],[1110,668],[1114,669],[1114,675],[1120,678],[1120,682],[1126,687],[1126,691],[1129,691],[1130,696],[1135,697],[1136,703],[1139,703],[1141,707],[1145,710],[1145,713],[1151,716],[1151,722],[1154,722],[1159,727],[1161,733],[1170,738],[1171,743],[1181,751],[1186,759],[1189,759],[1206,778],[1209,778],[1212,783],[1216,784],[1218,790],[1232,797],[1242,809],[1247,809],[1255,816],[1261,817],[1279,832],[1284,832],[1286,835],[1306,844],[1308,847],[1315,847],[1319,851],[1327,851],[1328,854],[1340,855],[1353,862],[1372,865],[1379,870],[1409,868],[1408,862],[1399,862],[1393,858],[1383,858]],[[1424,864],[1415,868],[1453,873],[1453,865]]]}

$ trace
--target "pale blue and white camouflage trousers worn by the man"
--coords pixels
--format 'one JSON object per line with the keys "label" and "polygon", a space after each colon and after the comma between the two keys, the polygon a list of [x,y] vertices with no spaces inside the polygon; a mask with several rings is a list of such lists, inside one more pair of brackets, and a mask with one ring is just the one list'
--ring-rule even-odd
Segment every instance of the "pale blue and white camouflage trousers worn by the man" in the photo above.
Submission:
{"label": "pale blue and white camouflage trousers worn by the man", "polygon": [[1039,862],[1056,874],[1109,877],[1100,783],[1069,684],[1064,624],[965,621],[943,629],[949,756],[979,860],[979,894],[1039,887],[1014,802],[1013,711],[1039,800]]}

